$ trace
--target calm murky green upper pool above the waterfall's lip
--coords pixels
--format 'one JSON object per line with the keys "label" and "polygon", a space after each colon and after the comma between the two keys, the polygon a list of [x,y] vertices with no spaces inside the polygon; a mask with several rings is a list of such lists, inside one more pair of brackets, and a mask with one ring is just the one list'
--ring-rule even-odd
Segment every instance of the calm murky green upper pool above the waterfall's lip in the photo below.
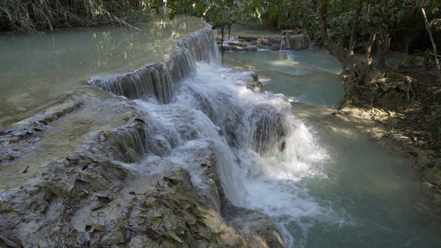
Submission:
{"label": "calm murky green upper pool above the waterfall's lip", "polygon": [[178,47],[175,39],[207,28],[196,17],[156,17],[135,29],[104,27],[0,34],[0,130],[65,99],[93,76],[132,72]]}

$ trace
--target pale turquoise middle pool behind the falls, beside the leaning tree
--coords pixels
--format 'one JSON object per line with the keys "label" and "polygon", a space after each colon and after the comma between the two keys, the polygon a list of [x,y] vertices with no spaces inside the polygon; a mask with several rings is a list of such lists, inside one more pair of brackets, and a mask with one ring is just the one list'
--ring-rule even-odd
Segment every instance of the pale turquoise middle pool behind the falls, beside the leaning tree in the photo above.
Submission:
{"label": "pale turquoise middle pool behind the falls, beside the leaning tree", "polygon": [[[224,56],[236,63],[252,65],[263,76],[263,88],[267,91],[282,93],[292,102],[335,107],[343,97],[337,76],[338,70],[341,72],[341,66],[333,56],[324,51],[261,50],[227,52]],[[265,81],[264,77],[271,81]]]}

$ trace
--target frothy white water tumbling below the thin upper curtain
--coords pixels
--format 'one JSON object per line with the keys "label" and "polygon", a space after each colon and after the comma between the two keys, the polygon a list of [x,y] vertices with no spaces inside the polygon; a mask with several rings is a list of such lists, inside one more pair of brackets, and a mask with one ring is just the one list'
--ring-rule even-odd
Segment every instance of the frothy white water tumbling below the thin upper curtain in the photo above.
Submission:
{"label": "frothy white water tumbling below the thin upper curtain", "polygon": [[309,229],[320,222],[344,224],[330,204],[312,198],[305,187],[305,178],[326,177],[320,165],[327,153],[291,115],[285,96],[247,90],[238,81],[248,72],[204,63],[196,67],[197,75],[181,83],[172,103],[136,101],[148,113],[152,143],[162,143],[162,150],[147,159],[159,155],[187,167],[195,187],[203,188],[192,167],[197,158],[189,156],[212,147],[229,200],[276,218],[287,247],[301,246]]}

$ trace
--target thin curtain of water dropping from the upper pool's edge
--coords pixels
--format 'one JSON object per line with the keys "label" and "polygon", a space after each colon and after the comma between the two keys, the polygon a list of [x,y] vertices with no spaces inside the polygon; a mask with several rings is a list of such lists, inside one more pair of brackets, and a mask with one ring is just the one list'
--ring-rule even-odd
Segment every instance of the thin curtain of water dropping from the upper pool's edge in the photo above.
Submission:
{"label": "thin curtain of water dropping from the upper pool's edge", "polygon": [[134,72],[100,76],[89,82],[101,89],[128,99],[153,97],[160,103],[170,103],[178,83],[196,73],[195,61],[217,63],[218,50],[210,28],[174,41],[181,48],[166,54],[161,61]]}

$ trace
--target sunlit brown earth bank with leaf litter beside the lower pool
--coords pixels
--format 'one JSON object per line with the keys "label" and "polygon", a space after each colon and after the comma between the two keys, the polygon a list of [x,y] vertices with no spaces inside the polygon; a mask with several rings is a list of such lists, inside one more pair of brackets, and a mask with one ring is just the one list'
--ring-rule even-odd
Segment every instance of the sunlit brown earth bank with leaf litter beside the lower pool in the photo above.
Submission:
{"label": "sunlit brown earth bank with leaf litter beside the lower pool", "polygon": [[[370,131],[394,152],[409,156],[414,169],[422,178],[422,189],[438,209],[441,220],[441,123],[436,112],[441,103],[438,77],[420,68],[393,70],[411,77],[412,94],[409,98],[398,94],[378,94],[375,101],[351,102],[334,115],[350,114],[373,121]],[[393,96],[392,96],[393,95]]]}

